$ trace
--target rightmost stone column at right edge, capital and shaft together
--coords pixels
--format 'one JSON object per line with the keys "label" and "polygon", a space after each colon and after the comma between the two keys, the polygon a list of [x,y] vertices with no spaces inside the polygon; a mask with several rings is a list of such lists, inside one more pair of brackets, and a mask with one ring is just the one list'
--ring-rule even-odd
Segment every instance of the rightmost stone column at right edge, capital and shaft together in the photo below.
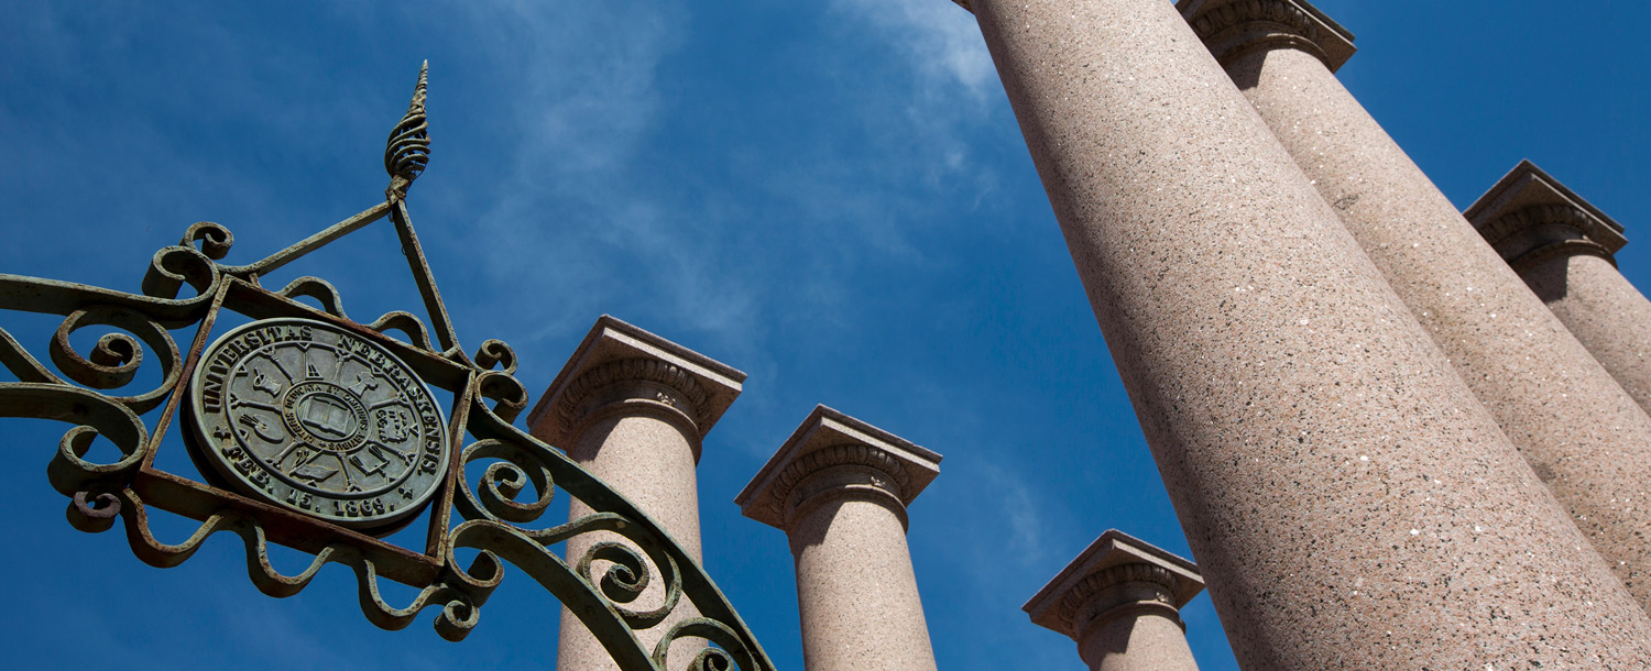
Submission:
{"label": "rightmost stone column at right edge, capital and shaft together", "polygon": [[1616,272],[1623,226],[1530,162],[1464,213],[1502,259],[1651,412],[1651,300]]}

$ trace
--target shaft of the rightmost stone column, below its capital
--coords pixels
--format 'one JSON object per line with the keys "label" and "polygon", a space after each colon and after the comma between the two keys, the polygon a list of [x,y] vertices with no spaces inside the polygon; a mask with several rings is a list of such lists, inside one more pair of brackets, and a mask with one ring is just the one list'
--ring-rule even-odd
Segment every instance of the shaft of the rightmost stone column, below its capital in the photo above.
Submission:
{"label": "shaft of the rightmost stone column, below its capital", "polygon": [[1651,412],[1651,300],[1592,254],[1560,256],[1521,272],[1593,358]]}

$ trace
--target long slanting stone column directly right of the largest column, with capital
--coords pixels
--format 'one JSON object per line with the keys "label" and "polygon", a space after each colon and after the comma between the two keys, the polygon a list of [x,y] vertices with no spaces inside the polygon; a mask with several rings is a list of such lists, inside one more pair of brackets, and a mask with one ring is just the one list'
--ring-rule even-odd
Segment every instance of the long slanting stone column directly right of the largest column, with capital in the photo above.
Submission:
{"label": "long slanting stone column directly right of the largest column, with capital", "polygon": [[1651,415],[1341,86],[1332,68],[1352,36],[1301,0],[1179,7],[1616,577],[1651,603]]}

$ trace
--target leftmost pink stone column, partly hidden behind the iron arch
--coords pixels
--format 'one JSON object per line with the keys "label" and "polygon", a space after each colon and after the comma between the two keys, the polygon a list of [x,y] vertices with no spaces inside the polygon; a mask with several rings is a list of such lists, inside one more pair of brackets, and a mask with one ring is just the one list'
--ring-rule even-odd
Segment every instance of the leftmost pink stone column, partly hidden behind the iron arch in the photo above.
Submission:
{"label": "leftmost pink stone column, partly hidden behind the iron arch", "polygon": [[[603,315],[550,382],[528,415],[533,435],[568,452],[598,478],[654,518],[693,561],[700,561],[700,500],[695,465],[700,442],[740,396],[745,373],[697,354],[677,343]],[[570,504],[570,519],[589,514]],[[601,541],[624,541],[613,533],[573,537],[570,562]],[[594,567],[599,567],[598,562]],[[632,608],[664,603],[659,569]],[[599,569],[593,574],[601,575]],[[639,633],[654,645],[670,625],[693,615],[679,605],[672,617]],[[690,650],[692,648],[692,650]],[[679,640],[670,668],[682,668],[698,648]],[[616,669],[611,656],[568,610],[561,612],[556,668]]]}

